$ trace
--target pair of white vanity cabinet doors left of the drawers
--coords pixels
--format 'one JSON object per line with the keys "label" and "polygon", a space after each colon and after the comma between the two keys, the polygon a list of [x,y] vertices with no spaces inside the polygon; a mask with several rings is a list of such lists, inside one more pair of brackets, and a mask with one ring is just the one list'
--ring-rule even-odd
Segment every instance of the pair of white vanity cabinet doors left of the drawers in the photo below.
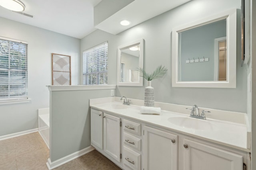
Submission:
{"label": "pair of white vanity cabinet doors left of the drawers", "polygon": [[91,145],[120,162],[121,119],[91,109]]}

